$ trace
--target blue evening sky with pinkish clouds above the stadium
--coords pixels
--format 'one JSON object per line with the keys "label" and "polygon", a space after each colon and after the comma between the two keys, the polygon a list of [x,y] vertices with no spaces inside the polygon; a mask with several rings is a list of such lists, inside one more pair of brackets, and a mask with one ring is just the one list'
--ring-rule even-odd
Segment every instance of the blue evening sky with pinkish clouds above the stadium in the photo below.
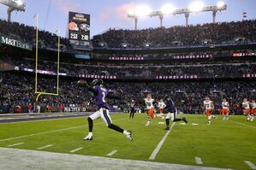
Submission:
{"label": "blue evening sky with pinkish clouds above the stadium", "polygon": [[[110,27],[134,28],[134,21],[127,18],[129,9],[137,5],[148,5],[152,10],[160,10],[164,4],[170,3],[176,8],[186,8],[195,1],[205,5],[217,4],[216,0],[25,0],[27,10],[13,12],[12,21],[35,25],[33,15],[39,14],[39,27],[50,32],[61,28],[62,36],[66,37],[68,28],[68,11],[77,11],[91,15],[91,37],[104,32]],[[223,0],[228,9],[217,14],[217,21],[241,21],[242,12],[247,12],[247,19],[256,18],[256,0]],[[7,19],[7,7],[0,4],[0,18]],[[198,24],[211,22],[211,13],[190,15],[189,23]],[[168,15],[164,17],[164,26],[184,25],[184,15]],[[138,27],[159,26],[158,17],[139,19]]]}

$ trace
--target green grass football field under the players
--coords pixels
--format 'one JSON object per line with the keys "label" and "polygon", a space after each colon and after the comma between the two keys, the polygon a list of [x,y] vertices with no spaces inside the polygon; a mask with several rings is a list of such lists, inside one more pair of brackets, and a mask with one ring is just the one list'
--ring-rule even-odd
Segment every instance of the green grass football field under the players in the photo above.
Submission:
{"label": "green grass football field under the players", "polygon": [[[166,134],[165,125],[159,124],[164,120],[145,126],[145,114],[135,114],[134,119],[128,114],[110,116],[114,124],[133,132],[134,141],[108,129],[103,120],[94,121],[93,141],[84,141],[87,119],[77,117],[1,123],[0,147],[242,170],[252,169],[245,161],[256,165],[256,122],[247,122],[245,116],[229,116],[227,121],[218,115],[207,126],[205,115],[182,114],[188,124],[176,122],[153,160],[149,157]],[[116,153],[107,155],[113,150]]]}

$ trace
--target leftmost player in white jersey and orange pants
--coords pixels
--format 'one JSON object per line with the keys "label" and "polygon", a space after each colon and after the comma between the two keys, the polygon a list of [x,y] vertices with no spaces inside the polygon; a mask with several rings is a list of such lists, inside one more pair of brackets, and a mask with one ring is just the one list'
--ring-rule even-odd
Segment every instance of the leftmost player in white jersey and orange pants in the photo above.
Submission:
{"label": "leftmost player in white jersey and orange pants", "polygon": [[146,98],[144,98],[145,104],[146,104],[146,114],[147,114],[147,122],[146,126],[149,126],[151,124],[151,119],[155,119],[157,115],[154,114],[154,105],[155,102],[154,99],[152,99],[152,95],[148,93],[146,95]]}

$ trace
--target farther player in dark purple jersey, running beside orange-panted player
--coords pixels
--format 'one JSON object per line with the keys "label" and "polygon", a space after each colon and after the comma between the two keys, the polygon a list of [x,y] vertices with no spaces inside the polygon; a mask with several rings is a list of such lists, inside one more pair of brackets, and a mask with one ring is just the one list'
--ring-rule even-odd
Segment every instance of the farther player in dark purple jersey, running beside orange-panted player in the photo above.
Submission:
{"label": "farther player in dark purple jersey, running beside orange-panted player", "polygon": [[164,130],[167,130],[167,131],[170,130],[170,120],[184,121],[185,123],[188,123],[188,120],[185,117],[183,117],[182,119],[176,118],[177,108],[170,97],[166,97],[166,108],[168,109],[168,114],[166,115],[166,118],[165,118],[166,128]]}

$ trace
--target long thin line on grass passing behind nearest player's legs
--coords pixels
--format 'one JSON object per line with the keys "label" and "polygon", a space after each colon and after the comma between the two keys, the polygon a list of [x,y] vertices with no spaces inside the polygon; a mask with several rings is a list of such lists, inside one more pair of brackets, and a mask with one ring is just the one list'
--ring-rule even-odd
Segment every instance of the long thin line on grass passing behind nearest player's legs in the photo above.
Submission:
{"label": "long thin line on grass passing behind nearest player's legs", "polygon": [[[120,119],[120,120],[126,120],[126,119],[127,118]],[[117,121],[117,120],[115,120],[115,121]],[[104,121],[103,122],[98,122],[98,123],[95,123],[95,124],[101,124],[101,123],[104,123]],[[42,134],[51,133],[51,132],[62,132],[62,131],[67,131],[67,130],[70,130],[70,129],[76,129],[76,128],[80,128],[80,127],[84,127],[84,126],[85,125],[68,127],[68,128],[63,128],[63,129],[57,129],[57,130],[47,131],[47,132],[38,132],[38,133],[33,133],[33,134],[30,134],[30,135],[23,135],[23,136],[15,137],[15,138],[5,138],[5,139],[1,139],[0,142],[9,141],[9,140],[17,139],[17,138],[33,137],[33,136],[42,135]]]}

